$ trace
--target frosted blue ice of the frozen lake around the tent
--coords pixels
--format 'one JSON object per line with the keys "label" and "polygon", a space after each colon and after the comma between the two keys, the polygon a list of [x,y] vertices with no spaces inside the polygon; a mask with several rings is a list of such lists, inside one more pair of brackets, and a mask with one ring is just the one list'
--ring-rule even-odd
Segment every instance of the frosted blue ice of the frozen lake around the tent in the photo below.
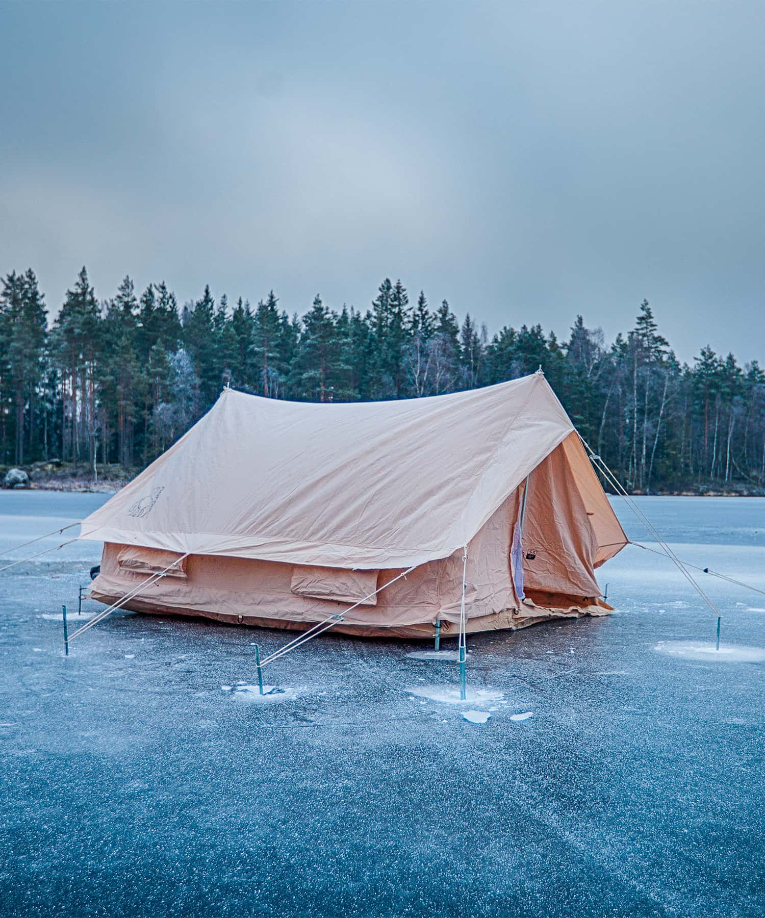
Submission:
{"label": "frosted blue ice of the frozen lake around the tent", "polygon": [[[0,492],[0,557],[106,498]],[[765,500],[638,499],[681,558],[765,590]],[[470,639],[465,707],[450,655],[332,635],[260,700],[250,642],[282,633],[118,612],[64,660],[99,554],[0,575],[0,914],[763,912],[765,595],[699,574],[710,654],[712,612],[628,546],[599,572],[613,616]]]}

